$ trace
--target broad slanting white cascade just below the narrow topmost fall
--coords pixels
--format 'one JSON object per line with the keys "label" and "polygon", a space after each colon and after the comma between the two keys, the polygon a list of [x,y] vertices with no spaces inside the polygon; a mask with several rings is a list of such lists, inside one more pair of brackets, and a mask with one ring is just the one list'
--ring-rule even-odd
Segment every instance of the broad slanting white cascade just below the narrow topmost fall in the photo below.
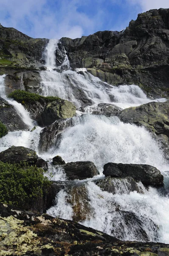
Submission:
{"label": "broad slanting white cascade just below the narrow topmost fall", "polygon": [[43,96],[59,96],[73,102],[77,107],[82,105],[81,91],[93,105],[113,103],[120,108],[129,108],[152,101],[164,102],[166,99],[148,99],[137,85],[121,85],[119,87],[102,82],[99,78],[84,72],[78,74],[72,70],[62,73],[56,71],[41,71],[41,87],[39,93]]}

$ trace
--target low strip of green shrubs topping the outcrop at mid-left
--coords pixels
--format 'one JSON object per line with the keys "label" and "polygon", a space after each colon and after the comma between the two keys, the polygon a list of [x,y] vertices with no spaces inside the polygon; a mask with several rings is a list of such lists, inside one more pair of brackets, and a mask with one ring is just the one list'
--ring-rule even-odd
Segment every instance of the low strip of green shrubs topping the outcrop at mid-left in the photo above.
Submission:
{"label": "low strip of green shrubs topping the outcrop at mid-left", "polygon": [[60,98],[58,97],[54,97],[54,96],[45,97],[36,93],[30,93],[24,90],[14,90],[12,93],[9,94],[8,97],[13,98],[14,100],[22,104],[24,104],[25,102],[40,101],[42,99],[44,99],[46,103],[60,100]]}

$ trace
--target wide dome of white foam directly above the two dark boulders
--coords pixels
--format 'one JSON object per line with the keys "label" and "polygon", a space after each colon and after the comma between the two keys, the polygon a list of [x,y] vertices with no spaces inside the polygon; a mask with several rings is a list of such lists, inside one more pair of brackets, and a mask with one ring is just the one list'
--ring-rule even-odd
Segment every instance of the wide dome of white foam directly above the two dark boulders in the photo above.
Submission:
{"label": "wide dome of white foam directly above the two dark boulders", "polygon": [[105,163],[150,164],[168,170],[158,143],[144,127],[125,124],[118,117],[85,114],[74,118],[74,126],[62,134],[60,155],[66,162],[93,161],[100,172]]}

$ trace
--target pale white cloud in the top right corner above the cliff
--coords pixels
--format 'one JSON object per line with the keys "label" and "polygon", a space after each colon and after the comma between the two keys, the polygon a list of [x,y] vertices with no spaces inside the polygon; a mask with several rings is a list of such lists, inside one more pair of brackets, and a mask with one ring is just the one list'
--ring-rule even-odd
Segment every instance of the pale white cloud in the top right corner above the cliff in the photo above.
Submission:
{"label": "pale white cloud in the top right corner above the cliff", "polygon": [[150,9],[169,8],[169,0],[128,0],[129,4],[139,5],[141,12]]}

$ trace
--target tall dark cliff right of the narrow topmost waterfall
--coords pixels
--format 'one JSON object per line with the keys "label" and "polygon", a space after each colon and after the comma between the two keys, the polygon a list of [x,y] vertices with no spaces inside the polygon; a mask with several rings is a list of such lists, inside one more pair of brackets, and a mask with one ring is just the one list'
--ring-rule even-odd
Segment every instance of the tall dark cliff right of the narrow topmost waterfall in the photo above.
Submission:
{"label": "tall dark cliff right of the narrow topmost waterfall", "polygon": [[139,14],[122,32],[96,32],[61,42],[71,67],[86,67],[110,84],[138,84],[150,96],[168,93],[169,9]]}

